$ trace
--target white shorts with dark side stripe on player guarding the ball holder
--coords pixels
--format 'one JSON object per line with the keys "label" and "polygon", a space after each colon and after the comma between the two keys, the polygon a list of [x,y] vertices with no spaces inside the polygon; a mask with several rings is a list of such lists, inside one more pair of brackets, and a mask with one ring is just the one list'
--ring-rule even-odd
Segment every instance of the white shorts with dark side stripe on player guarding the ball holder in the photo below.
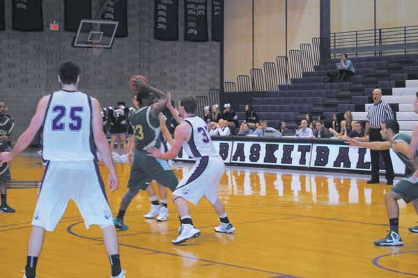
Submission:
{"label": "white shorts with dark side stripe on player guarding the ball holder", "polygon": [[224,160],[220,156],[203,156],[196,161],[192,170],[190,170],[173,194],[186,199],[195,206],[203,196],[215,203],[219,191],[219,181],[225,171]]}

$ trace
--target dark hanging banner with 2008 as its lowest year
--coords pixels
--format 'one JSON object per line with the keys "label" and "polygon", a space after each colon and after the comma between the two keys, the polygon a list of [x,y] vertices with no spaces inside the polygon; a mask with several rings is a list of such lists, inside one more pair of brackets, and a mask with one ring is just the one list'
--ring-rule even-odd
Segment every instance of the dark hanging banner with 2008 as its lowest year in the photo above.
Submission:
{"label": "dark hanging banner with 2008 as its lowest year", "polygon": [[185,40],[207,42],[208,0],[185,0]]}

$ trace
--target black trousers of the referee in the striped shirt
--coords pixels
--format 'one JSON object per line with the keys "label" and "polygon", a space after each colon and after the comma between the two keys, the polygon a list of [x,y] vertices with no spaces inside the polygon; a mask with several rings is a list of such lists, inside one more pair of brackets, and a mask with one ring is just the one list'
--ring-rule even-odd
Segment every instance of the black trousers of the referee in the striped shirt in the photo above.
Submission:
{"label": "black trousers of the referee in the striped shirt", "polygon": [[[380,135],[380,128],[372,128],[369,133],[369,141],[385,141]],[[394,167],[392,166],[392,160],[390,159],[389,150],[370,150],[371,157],[371,179],[379,180],[379,160],[380,153],[382,153],[383,162],[385,162],[386,168],[386,180],[394,180]]]}

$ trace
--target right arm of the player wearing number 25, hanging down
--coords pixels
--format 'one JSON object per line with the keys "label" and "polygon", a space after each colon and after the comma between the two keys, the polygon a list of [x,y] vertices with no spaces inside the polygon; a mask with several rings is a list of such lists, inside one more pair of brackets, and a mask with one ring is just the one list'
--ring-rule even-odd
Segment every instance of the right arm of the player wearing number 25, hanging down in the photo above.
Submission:
{"label": "right arm of the player wearing number 25, hanging down", "polygon": [[103,133],[103,121],[102,115],[100,114],[100,103],[95,98],[91,98],[93,104],[93,135],[95,145],[98,148],[100,155],[103,158],[104,164],[106,164],[107,169],[109,169],[109,188],[111,192],[114,192],[118,188],[118,176],[116,176],[116,170],[111,159],[111,152],[109,144],[107,143],[106,136]]}

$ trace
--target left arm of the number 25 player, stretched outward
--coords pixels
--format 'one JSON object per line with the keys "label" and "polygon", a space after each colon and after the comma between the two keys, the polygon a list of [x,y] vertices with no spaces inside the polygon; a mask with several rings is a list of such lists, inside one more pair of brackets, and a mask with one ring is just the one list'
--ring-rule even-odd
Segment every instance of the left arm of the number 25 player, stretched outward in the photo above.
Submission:
{"label": "left arm of the number 25 player, stretched outward", "polygon": [[19,139],[17,139],[15,147],[10,153],[0,153],[0,164],[4,162],[9,162],[13,159],[16,155],[22,153],[22,151],[31,144],[33,138],[35,137],[38,130],[42,127],[45,113],[47,109],[47,105],[49,102],[49,95],[45,95],[42,97],[39,102],[38,106],[36,107],[35,115],[29,124],[29,127],[20,135]]}

